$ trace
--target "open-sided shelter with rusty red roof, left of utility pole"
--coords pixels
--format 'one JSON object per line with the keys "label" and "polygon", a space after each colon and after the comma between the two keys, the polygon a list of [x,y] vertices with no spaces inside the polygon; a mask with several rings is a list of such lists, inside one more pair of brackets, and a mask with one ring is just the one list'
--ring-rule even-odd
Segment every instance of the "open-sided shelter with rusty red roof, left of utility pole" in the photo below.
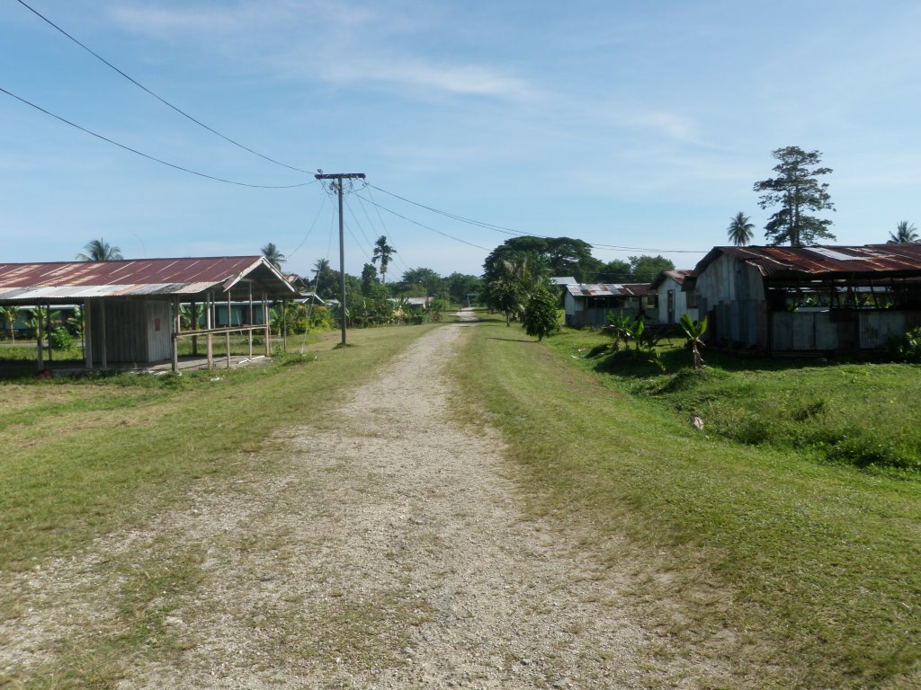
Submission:
{"label": "open-sided shelter with rusty red roof, left of utility pole", "polygon": [[[268,353],[268,302],[294,296],[291,283],[259,256],[0,264],[0,304],[82,305],[87,369],[169,359],[175,369],[177,339],[205,336],[210,346],[216,334],[257,328]],[[246,323],[217,328],[216,305],[241,302],[249,305]],[[204,305],[204,329],[182,331],[181,304]],[[41,318],[38,341],[41,369]]]}

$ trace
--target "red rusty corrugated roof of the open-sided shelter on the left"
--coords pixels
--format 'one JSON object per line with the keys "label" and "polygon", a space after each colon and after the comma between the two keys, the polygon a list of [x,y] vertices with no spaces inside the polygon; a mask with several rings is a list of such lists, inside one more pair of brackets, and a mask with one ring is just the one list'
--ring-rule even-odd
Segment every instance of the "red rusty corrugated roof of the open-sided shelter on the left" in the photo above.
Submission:
{"label": "red rusty corrugated roof of the open-sided shelter on the left", "polygon": [[265,259],[203,257],[0,264],[0,302],[227,293],[249,279],[273,295],[295,293]]}

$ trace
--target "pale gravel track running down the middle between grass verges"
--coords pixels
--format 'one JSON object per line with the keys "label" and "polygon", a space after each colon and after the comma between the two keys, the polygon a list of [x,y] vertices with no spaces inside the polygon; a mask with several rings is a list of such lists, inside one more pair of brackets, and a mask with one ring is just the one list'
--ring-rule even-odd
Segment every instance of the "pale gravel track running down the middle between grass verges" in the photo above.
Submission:
{"label": "pale gravel track running down the middle between grass verges", "polygon": [[[444,364],[468,328],[433,330],[321,428],[291,430],[283,471],[19,586],[79,613],[76,592],[114,586],[100,553],[204,553],[164,620],[181,652],[132,661],[124,688],[647,686],[612,574],[526,517],[500,443],[450,419]],[[7,651],[41,650],[54,626],[31,624]]]}

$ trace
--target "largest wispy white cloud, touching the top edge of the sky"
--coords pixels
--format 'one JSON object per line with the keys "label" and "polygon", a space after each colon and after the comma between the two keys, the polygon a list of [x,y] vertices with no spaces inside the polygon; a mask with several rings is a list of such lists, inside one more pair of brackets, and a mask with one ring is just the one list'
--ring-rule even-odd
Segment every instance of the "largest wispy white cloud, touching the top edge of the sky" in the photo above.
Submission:
{"label": "largest wispy white cloud, touching the top edge of the sky", "polygon": [[[342,85],[406,87],[414,92],[532,100],[539,90],[511,70],[487,63],[413,52],[414,36],[432,27],[399,12],[327,0],[227,6],[114,6],[122,29],[157,40],[194,41],[199,48],[262,64],[279,78]],[[414,95],[418,95],[415,93]]]}

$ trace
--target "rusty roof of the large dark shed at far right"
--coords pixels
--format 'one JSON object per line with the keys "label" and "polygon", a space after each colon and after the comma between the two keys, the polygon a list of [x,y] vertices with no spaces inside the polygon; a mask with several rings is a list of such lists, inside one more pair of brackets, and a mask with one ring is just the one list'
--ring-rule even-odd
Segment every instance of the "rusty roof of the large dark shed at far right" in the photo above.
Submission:
{"label": "rusty roof of the large dark shed at far right", "polygon": [[754,266],[764,276],[778,273],[921,275],[921,244],[915,243],[852,247],[713,247],[694,267],[694,275],[700,275],[721,254]]}

